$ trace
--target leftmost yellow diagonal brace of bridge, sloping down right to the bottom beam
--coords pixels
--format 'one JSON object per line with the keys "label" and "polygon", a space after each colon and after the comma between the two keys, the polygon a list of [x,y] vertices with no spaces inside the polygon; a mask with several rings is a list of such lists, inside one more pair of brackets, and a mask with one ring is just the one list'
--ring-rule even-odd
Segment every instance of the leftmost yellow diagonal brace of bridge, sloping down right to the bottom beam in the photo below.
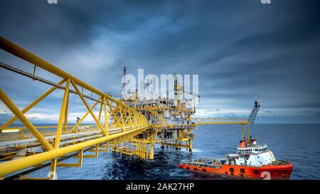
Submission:
{"label": "leftmost yellow diagonal brace of bridge, sloping down right to the bottom beam", "polygon": [[26,126],[29,131],[38,139],[38,141],[47,149],[53,150],[53,147],[46,141],[46,139],[41,135],[41,133],[36,129],[33,124],[27,119],[27,117],[16,107],[16,104],[11,101],[11,99],[0,89],[0,99],[6,107],[8,107],[11,112],[21,121],[21,123]]}

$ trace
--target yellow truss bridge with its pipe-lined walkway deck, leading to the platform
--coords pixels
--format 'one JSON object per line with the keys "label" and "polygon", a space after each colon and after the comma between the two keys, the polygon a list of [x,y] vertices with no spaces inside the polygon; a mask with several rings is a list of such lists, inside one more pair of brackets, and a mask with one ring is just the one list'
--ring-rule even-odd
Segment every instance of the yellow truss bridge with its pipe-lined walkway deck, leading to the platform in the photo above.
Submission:
{"label": "yellow truss bridge with its pipe-lined walkway deck, leading to the platform", "polygon": [[[28,50],[21,48],[6,38],[0,37],[0,48],[35,65],[33,74],[16,70],[4,63],[1,63],[1,67],[32,77],[33,80],[52,85],[47,92],[43,93],[43,95],[24,109],[18,109],[4,90],[0,89],[1,101],[14,114],[14,117],[0,127],[0,159],[2,160],[0,163],[0,178],[26,168],[38,166],[43,162],[51,161],[50,171],[52,172],[52,176],[49,179],[54,179],[57,166],[63,166],[61,163],[58,164],[58,158],[67,156],[70,153],[78,153],[79,160],[82,163],[83,149],[96,146],[95,150],[99,151],[98,147],[100,144],[107,144],[109,146],[110,141],[132,139],[135,135],[149,129],[149,124],[143,114],[110,97],[105,92],[88,85],[77,77],[70,75],[68,72],[56,68],[46,60],[28,52]],[[61,77],[62,80],[58,83],[53,83],[37,77],[35,75],[36,68],[42,68],[53,75]],[[34,126],[27,119],[26,112],[55,90],[64,90],[58,126],[54,126],[54,129],[52,127],[50,129],[50,127]],[[91,95],[83,95],[83,90],[90,92]],[[75,126],[68,126],[70,94],[78,95],[84,107],[87,108],[87,113],[82,116]],[[91,99],[95,103],[90,106],[86,99]],[[100,105],[98,116],[93,113],[93,109],[97,104]],[[88,114],[95,120],[96,125],[85,128],[81,123]],[[9,128],[17,119],[26,127],[18,129]],[[104,121],[101,124],[102,119]],[[76,164],[75,166],[81,166],[81,164]]]}

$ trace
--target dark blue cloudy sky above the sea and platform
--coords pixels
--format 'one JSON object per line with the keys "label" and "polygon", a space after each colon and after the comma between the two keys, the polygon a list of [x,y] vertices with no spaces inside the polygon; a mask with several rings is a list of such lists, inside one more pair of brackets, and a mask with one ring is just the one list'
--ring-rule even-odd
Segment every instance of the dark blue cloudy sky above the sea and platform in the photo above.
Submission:
{"label": "dark blue cloudy sky above the sea and platform", "polygon": [[[0,2],[1,36],[102,91],[120,92],[124,65],[131,74],[198,74],[198,117],[247,117],[261,97],[257,122],[320,122],[318,0]],[[0,61],[33,70],[3,50]],[[21,108],[49,87],[3,69],[0,77]],[[62,95],[28,117],[56,122]],[[85,112],[75,95],[70,111],[71,122]],[[0,104],[0,122],[9,114]]]}

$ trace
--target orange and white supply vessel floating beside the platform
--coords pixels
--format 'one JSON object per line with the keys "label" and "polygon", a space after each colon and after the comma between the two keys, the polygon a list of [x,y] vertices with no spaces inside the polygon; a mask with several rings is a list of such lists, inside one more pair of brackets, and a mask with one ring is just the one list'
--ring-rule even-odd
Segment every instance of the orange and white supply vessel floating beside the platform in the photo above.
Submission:
{"label": "orange and white supply vessel floating beside the platform", "polygon": [[289,179],[292,163],[274,158],[267,145],[257,144],[256,139],[242,137],[237,153],[225,159],[202,158],[178,164],[179,168],[221,175],[225,178]]}

